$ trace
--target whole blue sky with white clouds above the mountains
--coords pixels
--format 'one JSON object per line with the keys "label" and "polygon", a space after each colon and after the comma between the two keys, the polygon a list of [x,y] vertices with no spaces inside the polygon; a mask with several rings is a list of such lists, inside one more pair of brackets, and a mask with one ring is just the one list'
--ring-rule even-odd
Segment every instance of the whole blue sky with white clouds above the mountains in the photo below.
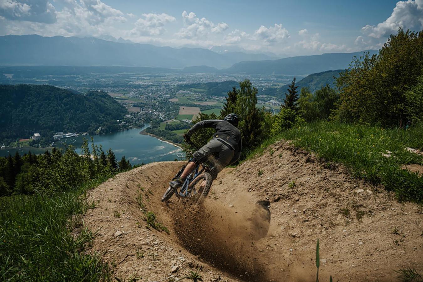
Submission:
{"label": "whole blue sky with white clouds above the mountains", "polygon": [[121,37],[217,52],[377,49],[400,26],[423,29],[423,0],[0,0],[0,35]]}

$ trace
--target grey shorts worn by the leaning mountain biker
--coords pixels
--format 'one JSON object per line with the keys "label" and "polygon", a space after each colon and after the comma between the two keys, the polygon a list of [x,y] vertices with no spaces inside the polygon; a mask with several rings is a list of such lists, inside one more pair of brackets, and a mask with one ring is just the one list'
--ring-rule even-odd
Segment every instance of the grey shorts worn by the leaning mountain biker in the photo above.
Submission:
{"label": "grey shorts worn by the leaning mountain biker", "polygon": [[[213,153],[219,153],[217,157],[213,157]],[[199,162],[204,159],[208,159],[210,162],[214,163],[214,167],[217,172],[220,172],[224,167],[226,167],[232,160],[235,151],[230,148],[228,145],[225,145],[219,140],[212,139],[206,145],[201,147],[198,151],[192,154],[194,161]],[[213,177],[215,178],[215,177]]]}

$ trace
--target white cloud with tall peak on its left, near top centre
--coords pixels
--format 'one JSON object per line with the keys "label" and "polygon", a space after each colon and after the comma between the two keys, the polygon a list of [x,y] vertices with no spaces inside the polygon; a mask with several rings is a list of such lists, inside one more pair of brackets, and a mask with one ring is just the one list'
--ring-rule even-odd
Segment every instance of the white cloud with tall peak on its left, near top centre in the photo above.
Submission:
{"label": "white cloud with tall peak on its left, near top centre", "polygon": [[176,35],[181,38],[199,39],[201,37],[206,37],[210,33],[222,33],[229,28],[225,22],[220,22],[215,25],[206,18],[198,18],[193,12],[188,14],[187,11],[183,11],[182,19],[185,26],[176,33]]}

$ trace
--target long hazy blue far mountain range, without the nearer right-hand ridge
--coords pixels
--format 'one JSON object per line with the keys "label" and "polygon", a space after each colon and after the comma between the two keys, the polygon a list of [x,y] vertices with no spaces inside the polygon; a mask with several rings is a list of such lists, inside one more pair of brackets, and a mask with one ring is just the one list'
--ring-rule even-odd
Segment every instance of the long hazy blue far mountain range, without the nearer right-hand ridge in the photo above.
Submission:
{"label": "long hazy blue far mountain range, without the nearer right-hand ridge", "polygon": [[247,60],[268,60],[264,54],[226,52],[202,48],[157,47],[129,44],[94,37],[0,36],[0,65],[3,66],[142,66],[184,68],[210,66],[228,68]]}

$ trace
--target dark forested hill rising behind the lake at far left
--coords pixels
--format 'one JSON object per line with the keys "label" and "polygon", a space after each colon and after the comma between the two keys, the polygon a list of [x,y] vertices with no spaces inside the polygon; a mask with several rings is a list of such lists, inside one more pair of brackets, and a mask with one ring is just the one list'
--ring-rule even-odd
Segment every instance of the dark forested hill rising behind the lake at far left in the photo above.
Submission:
{"label": "dark forested hill rising behind the lake at far left", "polygon": [[0,140],[11,142],[35,132],[51,137],[54,132],[102,132],[118,129],[126,114],[107,93],[85,95],[48,85],[0,85]]}

